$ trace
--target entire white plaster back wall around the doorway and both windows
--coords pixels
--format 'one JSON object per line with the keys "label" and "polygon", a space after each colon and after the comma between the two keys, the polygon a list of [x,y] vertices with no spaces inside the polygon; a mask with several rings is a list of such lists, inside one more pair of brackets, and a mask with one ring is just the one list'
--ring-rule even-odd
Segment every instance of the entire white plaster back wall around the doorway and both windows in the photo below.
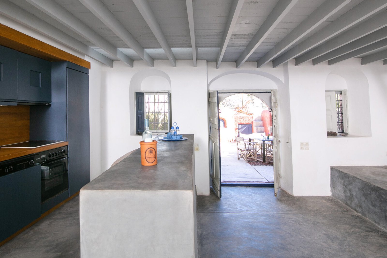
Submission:
{"label": "entire white plaster back wall around the doorway and both windows", "polygon": [[[200,60],[198,67],[192,67],[189,60],[178,61],[177,67],[171,67],[169,61],[156,61],[154,68],[142,61],[136,61],[134,68],[129,68],[122,62],[115,62],[114,65],[114,68],[102,66],[102,72],[97,72],[101,74],[101,172],[108,169],[118,157],[138,148],[141,137],[130,133],[130,122],[133,119],[130,119],[129,110],[134,103],[134,96],[130,96],[129,84],[135,74],[150,71],[148,69],[156,69],[168,76],[171,81],[173,121],[178,122],[183,133],[195,134],[195,142],[199,143],[200,151],[195,153],[198,194],[209,194],[207,76],[208,81],[212,82],[210,89],[223,88],[221,83],[216,82],[216,78],[222,78],[222,74],[228,79],[228,84],[224,86],[227,87],[226,90],[278,89],[282,176],[280,184],[291,194],[330,195],[329,167],[333,165],[387,164],[387,121],[384,119],[387,113],[387,104],[384,101],[387,96],[387,73],[381,64],[361,66],[360,62],[354,59],[332,66],[294,66],[292,61],[289,65],[285,64],[276,69],[272,69],[270,64],[257,69],[255,62],[247,62],[241,70],[235,68],[235,63],[224,63],[220,69],[216,69],[214,63],[207,65],[205,61]],[[336,83],[332,87],[338,87],[343,82],[348,83],[340,79],[340,76],[332,74],[332,71],[341,67],[357,69],[364,73],[368,80],[372,137],[326,136],[325,90],[329,89],[326,88],[327,82]],[[242,75],[246,72],[254,74],[245,77],[241,77],[241,74],[234,76],[238,71],[242,71]],[[337,77],[329,79],[332,76]],[[270,83],[267,82],[268,78]],[[277,83],[273,84],[276,80]],[[138,80],[139,85],[152,89],[158,86],[158,82],[161,88],[167,87],[168,80],[160,76],[145,76]],[[254,84],[257,86],[252,86]],[[343,85],[341,89],[346,87]],[[363,94],[362,91],[360,94]],[[95,100],[97,103],[98,98]],[[309,142],[310,150],[300,150],[300,142]],[[365,146],[368,148],[366,151]]]}

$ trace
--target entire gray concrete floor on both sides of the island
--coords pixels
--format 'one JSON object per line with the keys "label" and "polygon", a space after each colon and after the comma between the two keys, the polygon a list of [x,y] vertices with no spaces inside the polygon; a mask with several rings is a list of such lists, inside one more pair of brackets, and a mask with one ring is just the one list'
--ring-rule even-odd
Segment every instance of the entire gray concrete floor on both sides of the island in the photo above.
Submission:
{"label": "entire gray concrete floor on both sides of the island", "polygon": [[[268,187],[197,197],[199,257],[387,257],[387,232],[336,199]],[[1,258],[79,258],[79,198],[0,247]]]}

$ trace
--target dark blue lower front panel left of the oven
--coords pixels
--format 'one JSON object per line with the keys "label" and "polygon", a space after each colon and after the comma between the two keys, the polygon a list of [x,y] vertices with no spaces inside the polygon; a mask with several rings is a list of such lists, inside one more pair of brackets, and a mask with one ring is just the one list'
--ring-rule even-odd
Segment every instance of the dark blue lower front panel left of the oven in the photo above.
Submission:
{"label": "dark blue lower front panel left of the oven", "polygon": [[40,217],[40,182],[40,165],[0,177],[0,242]]}

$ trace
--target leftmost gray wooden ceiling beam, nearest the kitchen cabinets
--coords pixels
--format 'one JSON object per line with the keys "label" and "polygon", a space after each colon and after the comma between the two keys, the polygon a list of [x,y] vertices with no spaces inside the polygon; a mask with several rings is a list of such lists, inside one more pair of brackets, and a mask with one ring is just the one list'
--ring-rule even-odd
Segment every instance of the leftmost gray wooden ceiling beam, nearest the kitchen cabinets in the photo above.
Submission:
{"label": "leftmost gray wooden ceiling beam, nearest the kitchen cabinets", "polygon": [[14,3],[9,2],[8,0],[2,1],[0,13],[9,17],[10,19],[13,19],[14,21],[23,24],[24,26],[39,31],[40,33],[52,38],[53,40],[56,40],[74,50],[77,50],[78,52],[81,52],[84,55],[87,55],[93,58],[94,60],[101,62],[102,64],[105,64],[109,67],[113,67],[113,60],[111,60],[110,58],[102,55],[98,51],[85,45],[79,40],[76,40],[72,36],[69,36],[60,29],[55,28],[48,22],[39,19],[35,15],[27,12],[26,10],[15,5]]}

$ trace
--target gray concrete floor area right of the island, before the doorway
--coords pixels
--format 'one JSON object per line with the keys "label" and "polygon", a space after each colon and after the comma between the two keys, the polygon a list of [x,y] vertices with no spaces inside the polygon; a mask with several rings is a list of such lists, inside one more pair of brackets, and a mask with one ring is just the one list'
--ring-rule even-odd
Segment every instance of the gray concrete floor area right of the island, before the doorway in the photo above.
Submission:
{"label": "gray concrete floor area right of the island, before the doorway", "polygon": [[387,257],[387,232],[329,197],[267,187],[198,196],[199,257]]}

